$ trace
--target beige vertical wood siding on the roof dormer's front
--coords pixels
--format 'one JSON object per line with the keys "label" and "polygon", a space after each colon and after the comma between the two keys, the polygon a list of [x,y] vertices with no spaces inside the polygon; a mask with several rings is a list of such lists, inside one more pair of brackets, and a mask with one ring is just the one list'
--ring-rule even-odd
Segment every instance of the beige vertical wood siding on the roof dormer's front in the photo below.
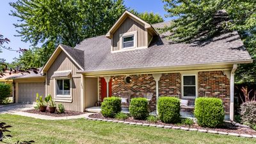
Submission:
{"label": "beige vertical wood siding on the roof dormer's front", "polygon": [[138,24],[138,22],[135,22],[131,18],[127,17],[123,24],[118,27],[118,29],[113,34],[113,51],[114,50],[120,50],[120,34],[124,34],[125,32],[132,32],[137,31],[137,43],[138,47],[147,47],[145,45],[145,28],[143,25]]}

